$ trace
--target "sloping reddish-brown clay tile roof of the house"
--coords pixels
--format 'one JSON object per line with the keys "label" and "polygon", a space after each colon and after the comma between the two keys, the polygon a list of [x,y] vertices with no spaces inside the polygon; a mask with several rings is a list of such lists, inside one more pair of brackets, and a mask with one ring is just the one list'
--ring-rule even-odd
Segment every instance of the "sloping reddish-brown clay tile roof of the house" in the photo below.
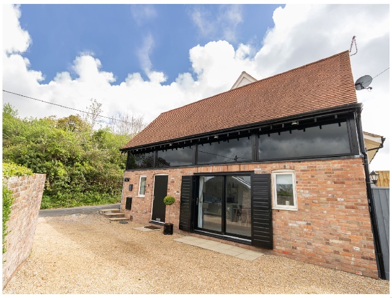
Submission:
{"label": "sloping reddish-brown clay tile roof of the house", "polygon": [[160,114],[121,150],[357,103],[348,51]]}

